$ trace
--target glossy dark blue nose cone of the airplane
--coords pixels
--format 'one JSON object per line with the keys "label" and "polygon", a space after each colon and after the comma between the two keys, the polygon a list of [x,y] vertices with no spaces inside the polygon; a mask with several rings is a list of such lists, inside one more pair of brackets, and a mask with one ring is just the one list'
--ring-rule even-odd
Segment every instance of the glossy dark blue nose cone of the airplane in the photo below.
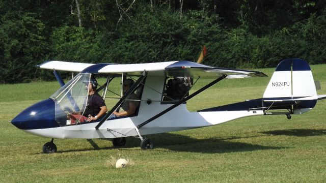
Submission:
{"label": "glossy dark blue nose cone of the airplane", "polygon": [[55,119],[55,102],[46,99],[18,114],[11,123],[21,130],[59,127]]}

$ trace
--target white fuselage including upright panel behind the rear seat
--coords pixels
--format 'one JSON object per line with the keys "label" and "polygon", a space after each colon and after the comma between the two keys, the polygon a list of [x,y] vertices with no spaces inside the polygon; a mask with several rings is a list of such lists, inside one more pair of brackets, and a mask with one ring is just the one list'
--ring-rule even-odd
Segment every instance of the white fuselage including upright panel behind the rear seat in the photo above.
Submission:
{"label": "white fuselage including upright panel behind the rear seat", "polygon": [[[173,104],[161,104],[161,92],[165,77],[148,75],[143,90],[142,101],[137,116],[113,118],[106,120],[98,130],[97,123],[71,125],[65,127],[24,130],[35,135],[49,138],[117,138],[137,136],[137,126],[144,121],[167,109]],[[153,90],[152,88],[155,88]],[[158,92],[157,92],[158,91]],[[153,101],[147,104],[146,101]],[[154,102],[156,101],[156,102]],[[158,101],[158,102],[157,102]],[[172,131],[187,130],[193,128],[218,125],[227,121],[252,116],[263,115],[262,110],[258,111],[212,111],[212,112],[189,112],[186,104],[181,104],[166,114],[156,118],[139,129],[141,135],[156,134]]]}

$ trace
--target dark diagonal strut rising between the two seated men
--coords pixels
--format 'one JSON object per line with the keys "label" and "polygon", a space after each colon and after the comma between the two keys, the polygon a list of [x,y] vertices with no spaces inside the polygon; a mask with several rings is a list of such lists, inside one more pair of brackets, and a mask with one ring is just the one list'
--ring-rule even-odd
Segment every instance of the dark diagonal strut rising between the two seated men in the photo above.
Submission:
{"label": "dark diagonal strut rising between the two seated men", "polygon": [[138,80],[130,87],[130,89],[127,91],[125,95],[121,97],[121,99],[118,101],[118,103],[108,112],[105,114],[105,116],[102,118],[100,123],[98,123],[95,127],[96,130],[100,128],[100,126],[104,123],[104,121],[111,115],[117,108],[126,100],[126,98],[134,92],[134,90],[138,87],[138,85],[145,79],[146,77],[146,72],[144,71],[142,75],[138,78]]}

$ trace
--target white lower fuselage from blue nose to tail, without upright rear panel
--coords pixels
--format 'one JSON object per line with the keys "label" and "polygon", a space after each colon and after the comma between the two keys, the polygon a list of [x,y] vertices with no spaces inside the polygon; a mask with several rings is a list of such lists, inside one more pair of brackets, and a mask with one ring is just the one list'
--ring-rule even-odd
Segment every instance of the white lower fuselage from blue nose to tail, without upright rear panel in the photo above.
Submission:
{"label": "white lower fuselage from blue nose to tail, without upright rear panel", "polygon": [[[173,132],[201,127],[208,127],[225,123],[227,121],[253,116],[263,115],[263,111],[219,111],[219,112],[185,112],[181,108],[176,109],[162,115],[161,117],[153,120],[151,123],[140,128],[141,135],[156,134]],[[181,113],[180,113],[181,112]],[[143,123],[145,118],[139,116],[126,117],[121,119],[107,120],[98,129],[95,130],[95,126],[98,123],[82,124],[67,127],[57,127],[48,129],[36,129],[36,130],[24,130],[25,132],[49,137],[49,138],[117,138],[138,136],[136,128],[137,125]]]}

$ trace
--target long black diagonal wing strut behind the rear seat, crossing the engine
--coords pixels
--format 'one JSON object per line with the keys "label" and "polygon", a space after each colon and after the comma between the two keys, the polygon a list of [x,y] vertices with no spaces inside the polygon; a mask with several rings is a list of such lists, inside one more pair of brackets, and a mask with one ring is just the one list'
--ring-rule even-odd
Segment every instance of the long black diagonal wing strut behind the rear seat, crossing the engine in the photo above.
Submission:
{"label": "long black diagonal wing strut behind the rear seat, crossing the engine", "polygon": [[140,124],[137,128],[138,128],[138,129],[142,128],[144,125],[150,123],[150,122],[153,121],[154,119],[156,119],[156,118],[160,117],[161,115],[163,115],[163,114],[169,112],[170,110],[172,110],[172,109],[178,107],[180,104],[182,104],[182,103],[184,103],[185,101],[187,101],[187,100],[189,100],[189,99],[195,97],[196,95],[198,95],[198,94],[200,94],[201,92],[203,92],[205,89],[207,89],[207,88],[209,88],[210,86],[212,86],[212,85],[214,85],[214,84],[220,82],[222,79],[224,79],[224,78],[226,78],[226,77],[227,77],[227,75],[223,75],[223,76],[219,77],[218,79],[215,79],[214,81],[208,83],[206,86],[204,86],[204,87],[198,89],[198,90],[197,90],[196,92],[194,92],[192,95],[189,95],[188,97],[183,98],[183,99],[180,100],[178,103],[176,103],[176,104],[170,106],[170,107],[167,108],[166,110],[164,110],[164,111],[162,111],[162,112],[160,112],[160,113],[154,115],[154,116],[151,117],[150,119],[146,120],[144,123]]}

